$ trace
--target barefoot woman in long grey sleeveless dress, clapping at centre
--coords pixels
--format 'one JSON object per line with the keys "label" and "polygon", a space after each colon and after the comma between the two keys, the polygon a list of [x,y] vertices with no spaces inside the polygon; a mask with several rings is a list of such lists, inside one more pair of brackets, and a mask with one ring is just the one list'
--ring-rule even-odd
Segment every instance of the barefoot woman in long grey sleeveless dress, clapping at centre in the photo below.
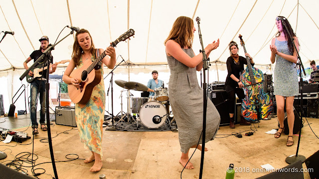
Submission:
{"label": "barefoot woman in long grey sleeveless dress, clapping at centre", "polygon": [[[196,70],[200,71],[203,66],[202,54],[195,56],[191,49],[195,30],[191,18],[180,16],[175,20],[164,42],[170,69],[169,100],[178,126],[178,139],[182,152],[179,162],[186,169],[194,168],[188,162],[188,151],[190,148],[201,150],[201,146],[197,144],[198,141],[202,141],[200,136],[203,126],[203,90],[198,85],[196,75]],[[218,45],[219,39],[207,45],[205,48],[207,57]],[[208,142],[214,139],[220,122],[219,113],[210,100],[207,101],[206,116],[205,142]]]}

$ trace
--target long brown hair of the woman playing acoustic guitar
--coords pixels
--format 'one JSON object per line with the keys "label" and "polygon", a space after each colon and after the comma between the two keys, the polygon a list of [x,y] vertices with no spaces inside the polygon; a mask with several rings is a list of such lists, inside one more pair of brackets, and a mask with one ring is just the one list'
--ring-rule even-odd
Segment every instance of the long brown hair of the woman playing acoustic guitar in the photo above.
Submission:
{"label": "long brown hair of the woman playing acoustic guitar", "polygon": [[90,32],[88,30],[81,29],[78,32],[76,32],[74,43],[73,43],[72,60],[74,61],[76,66],[80,65],[80,59],[81,59],[81,55],[82,55],[82,52],[83,52],[83,49],[81,48],[81,46],[80,46],[80,44],[78,42],[78,35],[81,34],[81,33],[88,33],[90,35],[90,38],[91,38],[90,53],[93,54],[93,56],[95,58],[95,47],[94,47],[92,36],[91,36],[91,34],[90,34]]}

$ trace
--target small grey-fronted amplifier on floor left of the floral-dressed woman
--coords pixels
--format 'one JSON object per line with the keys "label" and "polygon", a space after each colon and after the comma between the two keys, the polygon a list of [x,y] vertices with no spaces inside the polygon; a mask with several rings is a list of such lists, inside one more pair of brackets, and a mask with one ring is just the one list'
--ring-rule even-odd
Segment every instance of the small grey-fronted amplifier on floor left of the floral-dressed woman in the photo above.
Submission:
{"label": "small grey-fronted amplifier on floor left of the floral-dressed woman", "polygon": [[56,106],[55,123],[76,127],[74,106]]}

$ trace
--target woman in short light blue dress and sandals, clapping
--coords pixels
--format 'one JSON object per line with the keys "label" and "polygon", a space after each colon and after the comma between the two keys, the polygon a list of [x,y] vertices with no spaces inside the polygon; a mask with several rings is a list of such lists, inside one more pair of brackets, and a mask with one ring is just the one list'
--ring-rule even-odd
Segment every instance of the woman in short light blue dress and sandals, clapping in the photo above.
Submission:
{"label": "woman in short light blue dress and sandals, clapping", "polygon": [[[286,23],[290,34],[294,37],[294,41],[291,40],[288,31],[282,24],[282,21]],[[292,146],[294,144],[294,96],[299,94],[298,76],[295,68],[298,58],[293,43],[295,43],[297,50],[299,51],[299,42],[287,18],[278,16],[276,18],[276,25],[278,32],[270,45],[271,63],[275,63],[276,61],[274,73],[274,93],[276,95],[277,116],[280,123],[280,127],[278,132],[275,134],[275,138],[279,138],[281,133],[284,131],[284,106],[286,101],[289,127],[289,135],[286,145]]]}

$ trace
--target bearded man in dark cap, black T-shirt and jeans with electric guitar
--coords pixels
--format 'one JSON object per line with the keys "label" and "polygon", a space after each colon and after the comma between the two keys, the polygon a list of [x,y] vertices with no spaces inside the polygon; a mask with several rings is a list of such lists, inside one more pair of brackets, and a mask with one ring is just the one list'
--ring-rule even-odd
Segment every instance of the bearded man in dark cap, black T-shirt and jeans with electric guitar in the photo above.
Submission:
{"label": "bearded man in dark cap, black T-shirt and jeans with electric guitar", "polygon": [[[23,67],[25,70],[28,70],[29,67],[27,66],[27,63],[30,62],[33,59],[33,63],[42,55],[42,53],[48,48],[49,46],[49,38],[47,36],[42,36],[39,39],[41,46],[39,50],[35,50],[31,53],[31,55],[23,62]],[[44,59],[41,59],[38,64],[34,66],[34,68],[43,68],[47,66],[47,62],[43,63]],[[53,64],[53,57],[51,58],[50,63],[52,63],[51,68],[49,69],[49,73],[53,73],[56,70],[56,64]],[[46,73],[47,70],[44,70],[42,72],[42,76],[39,78],[35,78],[31,82],[31,87],[30,87],[30,115],[31,115],[31,122],[32,122],[32,134],[38,134],[38,123],[36,120],[36,100],[37,96],[39,94],[40,98],[40,105],[41,105],[41,110],[40,110],[40,127],[43,131],[46,131],[47,128],[45,126],[45,81],[46,81]],[[28,75],[30,77],[33,76],[33,69],[29,71]]]}

